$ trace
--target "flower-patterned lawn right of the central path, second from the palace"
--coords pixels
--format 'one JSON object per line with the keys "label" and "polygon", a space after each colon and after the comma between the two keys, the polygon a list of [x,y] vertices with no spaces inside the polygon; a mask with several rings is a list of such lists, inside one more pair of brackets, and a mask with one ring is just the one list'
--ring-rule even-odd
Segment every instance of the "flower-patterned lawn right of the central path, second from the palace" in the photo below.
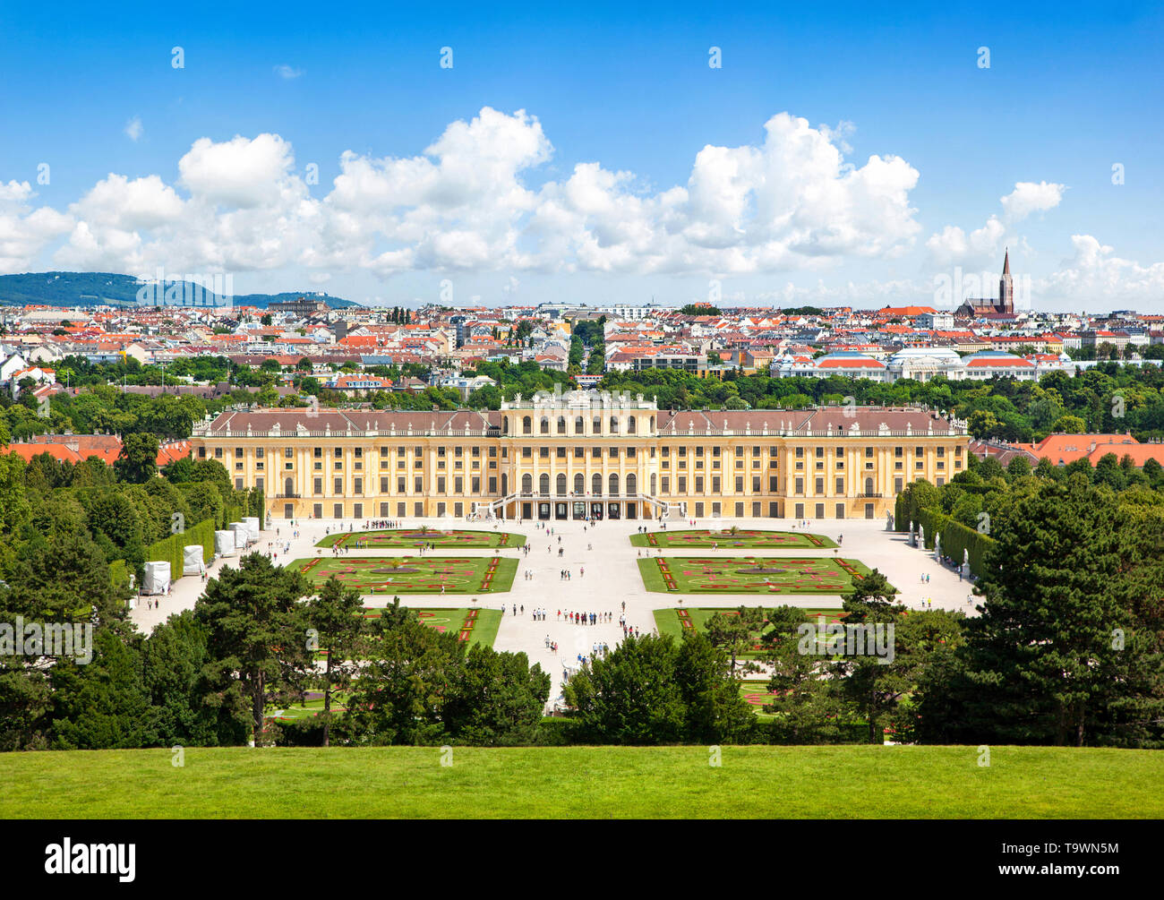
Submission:
{"label": "flower-patterned lawn right of the central path, second from the palace", "polygon": [[[836,557],[648,557],[647,590],[669,594],[847,594],[870,569]],[[748,569],[759,569],[750,572]]]}

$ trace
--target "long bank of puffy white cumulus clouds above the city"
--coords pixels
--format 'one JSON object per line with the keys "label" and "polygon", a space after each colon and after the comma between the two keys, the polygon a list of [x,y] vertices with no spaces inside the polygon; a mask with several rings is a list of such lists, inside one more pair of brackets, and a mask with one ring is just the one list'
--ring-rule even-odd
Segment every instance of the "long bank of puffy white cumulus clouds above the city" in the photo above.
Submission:
{"label": "long bank of puffy white cumulus clouds above the city", "polygon": [[[111,173],[70,207],[56,262],[121,271],[299,265],[403,271],[766,274],[895,256],[920,229],[918,172],[846,160],[853,127],[773,115],[754,144],[708,144],[651,190],[599,161],[560,178],[535,115],[483,107],[413,156],[345,151],[317,199],[276,134],[201,137],[178,178]],[[7,189],[14,190],[14,189]]]}

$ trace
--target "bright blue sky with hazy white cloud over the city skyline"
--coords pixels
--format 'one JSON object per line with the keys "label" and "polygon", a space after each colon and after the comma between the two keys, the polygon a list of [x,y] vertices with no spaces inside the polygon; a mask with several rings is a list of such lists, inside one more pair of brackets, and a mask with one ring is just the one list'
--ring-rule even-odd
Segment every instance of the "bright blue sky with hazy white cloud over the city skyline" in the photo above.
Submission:
{"label": "bright blue sky with hazy white cloud over the city skyline", "polygon": [[[391,303],[436,299],[442,279],[453,282],[459,303],[687,300],[705,295],[716,278],[726,297],[741,302],[880,305],[924,299],[935,275],[954,265],[994,271],[1001,247],[1010,246],[1013,268],[1035,278],[1036,306],[1164,306],[1162,13],[1150,5],[1014,6],[498,5],[487,17],[480,5],[456,3],[212,3],[197,10],[9,3],[0,16],[0,184],[28,182],[30,190],[10,189],[7,210],[0,205],[0,265],[128,271],[169,262],[170,270],[225,268],[240,291],[315,285]],[[171,66],[175,45],[185,55],[180,70]],[[989,69],[978,65],[984,45]],[[439,65],[442,47],[453,49],[452,69]],[[721,69],[708,65],[710,47],[722,50]],[[516,183],[528,192],[518,208],[498,208],[498,198],[480,191],[449,199],[454,189],[438,184],[434,196],[446,206],[432,212],[427,199],[417,200],[411,225],[385,225],[374,210],[336,212],[342,204],[328,194],[342,172],[341,154],[416,158],[452,123],[470,122],[487,107],[505,116],[525,111],[525,126],[534,121],[552,146],[516,165]],[[610,197],[658,200],[689,189],[707,146],[764,155],[765,123],[780,113],[807,120],[810,136],[825,134],[857,169],[871,156],[900,157],[916,171],[904,189],[894,180],[903,205],[889,197],[893,185],[885,196],[871,199],[860,190],[854,197],[851,185],[838,184],[844,169],[822,173],[814,157],[803,172],[788,170],[789,183],[807,185],[802,205],[785,211],[799,225],[757,227],[754,206],[775,189],[771,178],[768,186],[750,182],[755,192],[743,219],[721,222],[729,236],[717,234],[714,249],[693,236],[705,222],[682,200],[674,215],[644,211],[641,221],[627,222],[627,234],[615,236],[625,213],[608,213],[603,222],[569,206],[562,242],[549,249],[544,222],[531,222],[544,204],[559,208],[556,189],[576,165],[631,173]],[[132,136],[127,125],[135,119],[140,132]],[[207,173],[201,185],[210,199],[194,197],[179,160],[200,139],[217,144],[261,134],[286,144],[279,179],[318,165],[319,183],[300,185],[300,199],[318,210],[298,204],[289,212],[271,203],[268,225],[258,208],[267,200],[247,199],[253,234],[235,242],[265,234],[281,243],[235,256],[226,246],[237,238],[227,215],[230,192],[218,191]],[[767,147],[774,164],[787,149]],[[42,163],[51,166],[48,184],[37,184]],[[1116,163],[1124,168],[1122,185],[1112,183]],[[86,201],[111,173],[126,184],[101,191],[100,203]],[[143,190],[170,187],[180,204],[159,194],[168,211],[143,212],[148,200],[129,194],[136,179],[150,176],[161,185],[142,182]],[[1035,208],[1012,207],[1007,218],[1000,198],[1017,184],[1043,190]],[[832,196],[835,189],[844,196]],[[822,192],[831,200],[814,207]],[[783,200],[779,191],[768,197],[776,207]],[[134,214],[118,206],[134,203]],[[854,203],[863,208],[846,221]],[[909,211],[907,220],[878,234],[881,204],[895,203],[899,213]],[[41,207],[57,218],[30,220]],[[814,212],[821,221],[812,222]],[[284,234],[288,217],[300,214],[310,225],[298,221],[293,235]],[[894,213],[886,207],[885,214]],[[315,231],[333,215],[365,236],[361,251],[339,247],[334,222],[326,238]],[[191,229],[196,217],[200,225]],[[219,217],[226,218],[207,224]],[[1000,225],[977,247],[961,247],[950,233],[931,240],[946,228],[968,239],[991,217]],[[478,242],[481,256],[461,264],[453,250],[431,249],[440,231]],[[5,234],[19,240],[5,248]],[[582,258],[589,240],[602,248],[597,260]],[[625,246],[616,247],[619,240]],[[734,256],[725,241],[738,241]],[[502,251],[506,246],[512,253]],[[809,246],[829,249],[805,251]],[[539,247],[545,251],[535,262],[519,258]],[[403,257],[389,264],[379,257],[385,251]]]}

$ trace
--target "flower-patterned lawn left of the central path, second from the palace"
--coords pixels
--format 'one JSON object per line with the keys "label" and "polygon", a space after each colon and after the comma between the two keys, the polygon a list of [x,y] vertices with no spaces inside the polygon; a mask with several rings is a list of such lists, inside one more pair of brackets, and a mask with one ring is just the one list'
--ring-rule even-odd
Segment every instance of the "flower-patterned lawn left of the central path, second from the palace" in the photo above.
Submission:
{"label": "flower-patterned lawn left of the central path, second from the palace", "polygon": [[[399,561],[399,568],[391,564]],[[513,586],[517,560],[504,557],[317,557],[289,566],[312,584],[335,575],[361,594],[502,594]],[[490,567],[496,565],[492,576]],[[488,581],[488,590],[485,582]]]}

